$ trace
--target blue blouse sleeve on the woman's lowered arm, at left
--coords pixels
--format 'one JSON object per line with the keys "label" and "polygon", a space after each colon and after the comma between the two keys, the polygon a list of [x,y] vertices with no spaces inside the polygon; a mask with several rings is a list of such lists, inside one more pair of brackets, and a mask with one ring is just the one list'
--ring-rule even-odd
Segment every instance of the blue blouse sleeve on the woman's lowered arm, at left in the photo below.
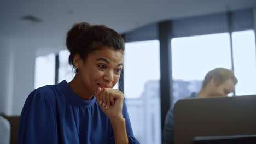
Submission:
{"label": "blue blouse sleeve on the woman's lowered arm, at left", "polygon": [[53,105],[35,90],[28,95],[21,112],[18,144],[58,143]]}

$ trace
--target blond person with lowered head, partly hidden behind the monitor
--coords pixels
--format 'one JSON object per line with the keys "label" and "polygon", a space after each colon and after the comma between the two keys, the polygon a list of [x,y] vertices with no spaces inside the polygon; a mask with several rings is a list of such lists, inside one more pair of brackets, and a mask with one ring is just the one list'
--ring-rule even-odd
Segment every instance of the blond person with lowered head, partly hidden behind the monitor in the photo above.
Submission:
{"label": "blond person with lowered head, partly hidden behind the monitor", "polygon": [[[231,70],[216,68],[206,74],[201,90],[198,93],[191,93],[187,98],[226,97],[234,91],[237,82],[238,80]],[[174,143],[173,117],[173,110],[170,108],[165,118],[162,144]]]}

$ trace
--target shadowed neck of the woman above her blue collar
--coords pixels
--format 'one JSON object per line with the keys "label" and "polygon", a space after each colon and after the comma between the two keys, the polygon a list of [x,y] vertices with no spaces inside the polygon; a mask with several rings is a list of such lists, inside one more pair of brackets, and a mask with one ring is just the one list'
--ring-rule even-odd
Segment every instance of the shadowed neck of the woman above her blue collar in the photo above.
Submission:
{"label": "shadowed neck of the woman above her blue collar", "polygon": [[74,79],[68,85],[80,99],[91,100],[94,97],[94,94],[90,94],[77,75],[75,75]]}

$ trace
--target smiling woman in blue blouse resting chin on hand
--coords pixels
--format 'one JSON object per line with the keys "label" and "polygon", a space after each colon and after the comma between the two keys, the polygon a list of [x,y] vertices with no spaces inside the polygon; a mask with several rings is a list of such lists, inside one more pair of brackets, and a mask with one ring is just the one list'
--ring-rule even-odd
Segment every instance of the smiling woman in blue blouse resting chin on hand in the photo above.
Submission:
{"label": "smiling woman in blue blouse resting chin on hand", "polygon": [[21,113],[18,143],[139,143],[124,102],[112,89],[123,68],[124,40],[103,25],[67,33],[74,79],[38,88]]}

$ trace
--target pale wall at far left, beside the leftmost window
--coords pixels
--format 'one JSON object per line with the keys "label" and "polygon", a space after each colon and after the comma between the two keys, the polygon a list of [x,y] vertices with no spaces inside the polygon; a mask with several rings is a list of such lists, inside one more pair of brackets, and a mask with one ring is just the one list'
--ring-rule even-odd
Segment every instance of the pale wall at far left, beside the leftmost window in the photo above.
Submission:
{"label": "pale wall at far left, beside the leftmost window", "polygon": [[22,40],[0,40],[0,113],[20,115],[34,88],[35,49]]}

